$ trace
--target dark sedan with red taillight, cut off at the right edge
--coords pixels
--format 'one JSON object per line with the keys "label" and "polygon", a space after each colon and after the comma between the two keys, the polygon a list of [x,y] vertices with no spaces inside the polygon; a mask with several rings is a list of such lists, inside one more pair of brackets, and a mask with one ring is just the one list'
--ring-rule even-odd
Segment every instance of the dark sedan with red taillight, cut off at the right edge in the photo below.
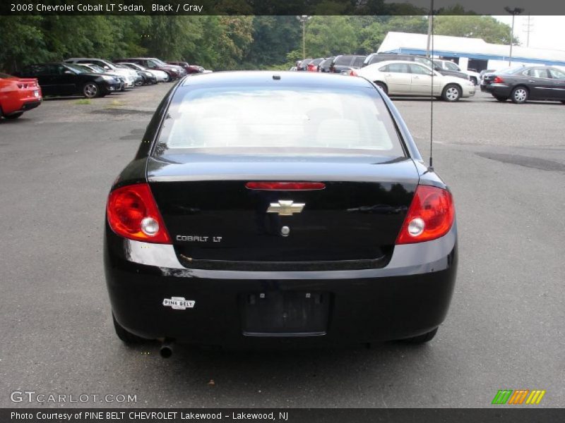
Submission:
{"label": "dark sedan with red taillight, cut off at the right edge", "polygon": [[565,104],[565,72],[551,66],[516,66],[485,73],[484,90],[500,102],[549,100]]}

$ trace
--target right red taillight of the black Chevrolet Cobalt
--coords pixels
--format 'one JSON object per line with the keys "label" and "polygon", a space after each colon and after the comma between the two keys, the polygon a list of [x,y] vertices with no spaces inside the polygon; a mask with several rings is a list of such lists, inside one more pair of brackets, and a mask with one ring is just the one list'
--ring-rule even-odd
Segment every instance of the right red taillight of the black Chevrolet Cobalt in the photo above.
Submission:
{"label": "right red taillight of the black Chevrolet Cobalt", "polygon": [[422,243],[440,238],[451,229],[454,216],[451,192],[418,185],[396,244]]}

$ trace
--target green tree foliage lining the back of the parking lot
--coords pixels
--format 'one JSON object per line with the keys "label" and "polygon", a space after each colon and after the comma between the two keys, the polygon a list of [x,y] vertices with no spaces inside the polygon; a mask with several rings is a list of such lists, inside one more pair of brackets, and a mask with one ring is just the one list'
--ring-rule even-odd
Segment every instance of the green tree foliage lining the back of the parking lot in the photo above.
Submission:
{"label": "green tree foliage lining the back of the parking lot", "polygon": [[[222,1],[234,10],[246,4]],[[348,3],[328,0],[324,10],[333,7],[335,16],[307,22],[307,56],[369,54],[389,31],[427,33],[427,16],[340,16],[342,4]],[[366,4],[382,10],[385,3]],[[434,23],[436,35],[499,44],[510,39],[509,25],[490,16],[439,15]],[[214,70],[284,68],[302,58],[302,24],[295,16],[0,16],[0,69],[5,71],[71,56],[140,55]]]}

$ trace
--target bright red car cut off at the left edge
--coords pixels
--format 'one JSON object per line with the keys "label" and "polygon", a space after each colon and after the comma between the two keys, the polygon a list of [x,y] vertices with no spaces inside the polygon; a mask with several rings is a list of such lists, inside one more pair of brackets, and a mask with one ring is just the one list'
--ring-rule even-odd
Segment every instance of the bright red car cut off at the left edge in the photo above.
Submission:
{"label": "bright red car cut off at the left edge", "polygon": [[35,109],[41,102],[41,87],[36,79],[0,73],[0,118],[17,119],[24,111]]}

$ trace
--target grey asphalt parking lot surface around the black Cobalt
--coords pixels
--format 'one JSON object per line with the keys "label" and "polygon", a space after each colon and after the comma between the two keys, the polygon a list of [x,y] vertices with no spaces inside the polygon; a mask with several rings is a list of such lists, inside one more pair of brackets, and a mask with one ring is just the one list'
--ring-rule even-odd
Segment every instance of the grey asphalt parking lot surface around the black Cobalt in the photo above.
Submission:
{"label": "grey asphalt parking lot surface around the black Cobalt", "polygon": [[[434,167],[453,190],[460,261],[429,344],[178,345],[163,360],[157,343],[114,335],[102,225],[109,187],[169,87],[47,100],[1,121],[1,407],[491,407],[503,388],[544,389],[536,407],[565,405],[564,105],[481,92],[433,103]],[[430,102],[395,103],[429,157]],[[13,391],[136,402],[13,403]]]}

